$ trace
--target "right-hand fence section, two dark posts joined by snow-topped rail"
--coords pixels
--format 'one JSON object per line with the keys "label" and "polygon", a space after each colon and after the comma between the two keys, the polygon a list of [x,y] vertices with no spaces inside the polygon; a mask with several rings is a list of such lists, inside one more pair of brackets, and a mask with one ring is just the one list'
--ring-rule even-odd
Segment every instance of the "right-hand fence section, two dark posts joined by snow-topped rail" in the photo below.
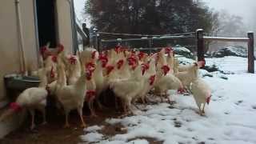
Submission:
{"label": "right-hand fence section, two dark posts joined by snow-topped rail", "polygon": [[221,42],[246,42],[248,44],[248,72],[254,74],[254,33],[248,32],[248,38],[224,38],[224,37],[206,37],[203,35],[203,30],[196,31],[197,47],[198,47],[198,61],[204,60],[205,43],[212,41]]}

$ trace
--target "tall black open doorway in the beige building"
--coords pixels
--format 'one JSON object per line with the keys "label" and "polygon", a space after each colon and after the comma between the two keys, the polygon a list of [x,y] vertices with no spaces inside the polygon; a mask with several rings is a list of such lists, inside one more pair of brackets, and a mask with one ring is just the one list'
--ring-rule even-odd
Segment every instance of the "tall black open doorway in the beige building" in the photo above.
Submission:
{"label": "tall black open doorway in the beige building", "polygon": [[39,46],[57,46],[56,0],[36,0]]}

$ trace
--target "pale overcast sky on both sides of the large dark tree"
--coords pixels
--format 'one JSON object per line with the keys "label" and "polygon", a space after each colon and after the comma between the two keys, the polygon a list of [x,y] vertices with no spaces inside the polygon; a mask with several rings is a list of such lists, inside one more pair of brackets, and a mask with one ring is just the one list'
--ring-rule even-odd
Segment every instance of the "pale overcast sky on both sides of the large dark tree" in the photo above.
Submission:
{"label": "pale overcast sky on both sides of the large dark tree", "polygon": [[[82,10],[86,0],[74,0],[76,14],[82,19]],[[215,10],[227,10],[244,18],[246,25],[252,20],[256,23],[256,0],[202,0],[207,6]],[[86,22],[89,25],[89,22]],[[250,26],[250,25],[249,25]]]}

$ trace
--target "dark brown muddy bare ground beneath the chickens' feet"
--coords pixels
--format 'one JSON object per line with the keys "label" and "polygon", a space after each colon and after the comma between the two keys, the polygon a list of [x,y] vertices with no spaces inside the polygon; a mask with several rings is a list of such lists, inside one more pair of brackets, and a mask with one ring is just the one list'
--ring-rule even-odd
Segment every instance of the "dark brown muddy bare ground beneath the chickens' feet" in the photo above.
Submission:
{"label": "dark brown muddy bare ground beneath the chickens' feet", "polygon": [[[89,110],[84,110],[84,120],[87,126],[104,126],[100,131],[106,138],[110,138],[115,134],[124,134],[126,130],[122,130],[121,124],[110,125],[105,122],[106,118],[118,118],[122,115],[122,111],[116,110],[113,106],[107,110],[96,110],[98,117],[90,117]],[[89,143],[82,142],[79,137],[82,134],[86,134],[83,128],[80,127],[80,119],[76,110],[70,113],[70,128],[63,128],[65,122],[65,116],[60,114],[59,110],[53,107],[47,108],[47,124],[40,125],[42,121],[42,115],[38,112],[36,115],[36,130],[30,130],[30,115],[26,118],[26,122],[18,130],[8,134],[5,138],[0,139],[0,144],[77,144],[77,143]],[[135,139],[135,138],[134,138]],[[130,141],[134,140],[130,139]],[[158,144],[154,138],[145,138],[152,144]],[[92,143],[92,142],[90,142]]]}

